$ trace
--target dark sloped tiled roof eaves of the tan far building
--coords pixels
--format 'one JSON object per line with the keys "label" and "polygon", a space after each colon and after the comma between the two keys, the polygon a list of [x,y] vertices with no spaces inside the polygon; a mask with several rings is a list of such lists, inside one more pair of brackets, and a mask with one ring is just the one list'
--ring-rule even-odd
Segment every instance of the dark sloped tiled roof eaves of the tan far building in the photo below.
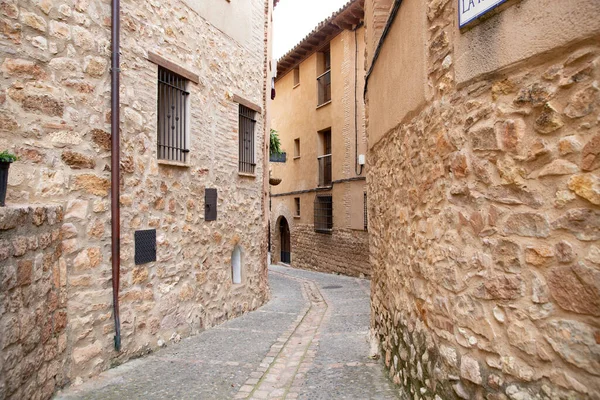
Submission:
{"label": "dark sloped tiled roof eaves of the tan far building", "polygon": [[341,31],[358,25],[364,18],[364,7],[365,0],[350,0],[329,18],[321,21],[300,43],[277,60],[276,80],[282,78]]}

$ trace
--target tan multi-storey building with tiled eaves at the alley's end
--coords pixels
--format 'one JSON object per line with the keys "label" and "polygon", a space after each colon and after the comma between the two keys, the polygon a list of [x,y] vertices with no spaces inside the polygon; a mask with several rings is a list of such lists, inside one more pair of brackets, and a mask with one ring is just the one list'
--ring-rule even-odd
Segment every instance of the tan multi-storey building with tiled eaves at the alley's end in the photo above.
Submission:
{"label": "tan multi-storey building with tiled eaves at the alley's end", "polygon": [[358,165],[366,151],[363,4],[348,2],[278,61],[272,127],[286,155],[270,167],[281,179],[271,187],[274,262],[370,274]]}

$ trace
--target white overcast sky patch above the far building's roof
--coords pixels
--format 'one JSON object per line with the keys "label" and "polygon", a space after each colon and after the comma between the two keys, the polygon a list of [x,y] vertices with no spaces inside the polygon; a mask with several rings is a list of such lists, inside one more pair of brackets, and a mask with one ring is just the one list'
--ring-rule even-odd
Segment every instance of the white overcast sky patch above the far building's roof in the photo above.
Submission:
{"label": "white overcast sky patch above the far building's roof", "polygon": [[273,55],[291,50],[348,0],[281,0],[273,13]]}

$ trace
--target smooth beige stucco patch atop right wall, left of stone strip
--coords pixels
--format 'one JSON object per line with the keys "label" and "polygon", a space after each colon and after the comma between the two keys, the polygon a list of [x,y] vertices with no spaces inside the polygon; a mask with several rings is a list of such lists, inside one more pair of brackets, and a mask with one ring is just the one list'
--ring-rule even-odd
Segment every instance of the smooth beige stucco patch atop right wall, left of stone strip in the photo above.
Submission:
{"label": "smooth beige stucco patch atop right wall, left of stone strip", "polygon": [[[427,86],[426,14],[420,0],[406,0],[392,24],[369,78],[369,148],[430,96]],[[368,62],[370,65],[370,62]],[[389,65],[394,68],[389,68]]]}

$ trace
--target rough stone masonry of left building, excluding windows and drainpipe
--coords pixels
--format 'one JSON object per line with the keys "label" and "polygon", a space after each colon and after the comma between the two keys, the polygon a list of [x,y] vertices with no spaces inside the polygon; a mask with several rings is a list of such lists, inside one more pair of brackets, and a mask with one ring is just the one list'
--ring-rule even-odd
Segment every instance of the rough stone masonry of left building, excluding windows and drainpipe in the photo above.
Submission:
{"label": "rough stone masonry of left building, excluding windows and drainpipe", "polygon": [[[262,205],[264,116],[256,178],[238,176],[237,94],[263,104],[265,2],[252,0],[252,37],[234,42],[181,1],[122,1],[121,324],[114,351],[110,253],[110,2],[0,3],[0,148],[8,204],[64,206],[66,377],[87,378],[255,309],[268,296]],[[190,83],[191,162],[156,162],[157,66],[162,54],[200,76]],[[219,216],[204,221],[204,189]],[[157,229],[157,262],[135,266],[134,231]],[[242,285],[231,253],[243,249]]]}

